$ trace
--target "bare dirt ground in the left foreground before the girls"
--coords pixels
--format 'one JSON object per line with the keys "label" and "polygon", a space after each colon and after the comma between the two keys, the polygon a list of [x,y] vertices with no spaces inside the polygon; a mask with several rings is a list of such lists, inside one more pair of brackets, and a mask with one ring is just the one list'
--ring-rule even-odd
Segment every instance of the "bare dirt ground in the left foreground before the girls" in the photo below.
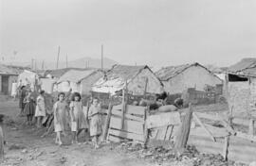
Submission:
{"label": "bare dirt ground in the left foreground before the girls", "polygon": [[[15,124],[5,125],[8,144],[5,147],[5,161],[0,165],[22,166],[151,166],[143,159],[117,151],[113,144],[104,144],[95,150],[90,144],[70,145],[70,136],[64,139],[64,146],[54,144],[54,134],[41,138],[45,132],[22,125],[25,117],[17,117],[18,103],[1,101],[0,113],[10,116]],[[11,123],[10,123],[11,124]]]}

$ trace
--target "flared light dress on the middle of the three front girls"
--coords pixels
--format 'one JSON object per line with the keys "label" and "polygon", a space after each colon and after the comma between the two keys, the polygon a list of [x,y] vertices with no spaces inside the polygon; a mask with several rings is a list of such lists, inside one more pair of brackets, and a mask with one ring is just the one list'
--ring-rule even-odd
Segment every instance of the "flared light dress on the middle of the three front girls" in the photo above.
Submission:
{"label": "flared light dress on the middle of the three front girls", "polygon": [[[74,112],[74,117],[72,116],[72,111]],[[70,103],[69,115],[71,117],[71,131],[88,128],[88,122],[82,111],[82,102],[72,101]]]}

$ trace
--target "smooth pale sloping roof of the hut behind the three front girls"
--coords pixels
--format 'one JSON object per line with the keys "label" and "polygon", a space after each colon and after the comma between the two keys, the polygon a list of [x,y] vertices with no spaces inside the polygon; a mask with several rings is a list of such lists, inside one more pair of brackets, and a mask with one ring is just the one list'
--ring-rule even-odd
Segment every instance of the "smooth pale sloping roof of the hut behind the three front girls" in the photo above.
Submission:
{"label": "smooth pale sloping roof of the hut behind the three front girls", "polygon": [[70,70],[60,77],[60,79],[58,80],[58,83],[64,82],[64,81],[79,83],[83,78],[89,75],[92,75],[95,72],[97,71],[96,70],[86,70],[86,71]]}

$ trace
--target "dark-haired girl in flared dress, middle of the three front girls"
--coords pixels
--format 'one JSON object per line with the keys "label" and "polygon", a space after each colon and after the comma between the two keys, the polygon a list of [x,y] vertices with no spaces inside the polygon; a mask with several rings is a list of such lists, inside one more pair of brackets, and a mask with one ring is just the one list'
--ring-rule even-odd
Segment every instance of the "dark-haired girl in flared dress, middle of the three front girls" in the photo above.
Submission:
{"label": "dark-haired girl in flared dress, middle of the three front girls", "polygon": [[81,95],[79,92],[75,92],[72,96],[69,114],[71,117],[71,131],[73,135],[72,143],[77,143],[79,133],[88,128],[88,124],[82,111]]}

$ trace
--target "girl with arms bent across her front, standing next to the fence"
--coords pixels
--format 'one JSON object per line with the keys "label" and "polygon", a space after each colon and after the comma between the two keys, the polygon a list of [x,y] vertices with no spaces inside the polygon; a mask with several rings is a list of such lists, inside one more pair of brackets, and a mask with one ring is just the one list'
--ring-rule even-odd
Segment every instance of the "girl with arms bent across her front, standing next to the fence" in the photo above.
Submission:
{"label": "girl with arms bent across her front, standing next to the fence", "polygon": [[93,99],[92,106],[88,111],[90,120],[90,135],[93,137],[94,147],[99,148],[99,137],[101,135],[101,106],[98,98]]}

